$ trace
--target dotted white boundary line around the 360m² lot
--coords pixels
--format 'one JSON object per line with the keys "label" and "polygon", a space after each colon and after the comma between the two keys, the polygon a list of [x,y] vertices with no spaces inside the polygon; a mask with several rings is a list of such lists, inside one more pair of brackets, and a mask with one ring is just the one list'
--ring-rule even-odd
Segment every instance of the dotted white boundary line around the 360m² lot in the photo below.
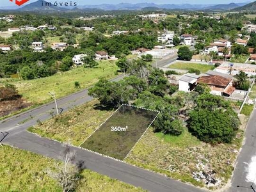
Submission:
{"label": "dotted white boundary line around the 360m\u00b2 lot", "polygon": [[[106,120],[104,120],[104,122],[103,122],[102,124],[100,124],[99,127],[98,127],[97,129],[95,129],[95,131],[93,131],[92,134],[90,134],[90,136],[88,136],[88,137],[83,141],[83,143],[84,143],[86,140],[88,140],[103,124],[105,124],[106,121],[109,120],[109,118],[111,118],[111,116],[113,116],[122,106],[130,106],[130,107],[132,107],[132,108],[139,108],[139,109],[145,109],[145,110],[148,110],[148,111],[157,112],[157,115],[155,116],[155,118],[154,118],[154,119],[152,120],[152,122],[148,125],[147,129],[143,132],[143,134],[141,134],[141,136],[140,136],[140,138],[138,139],[138,141],[136,141],[136,143],[134,144],[134,146],[131,148],[131,150],[130,150],[129,153],[127,154],[127,156],[129,156],[129,154],[131,153],[131,151],[133,150],[133,148],[134,148],[134,147],[136,146],[136,144],[141,140],[141,138],[143,137],[143,135],[145,134],[145,132],[148,130],[148,128],[152,125],[152,123],[154,122],[154,120],[156,120],[157,116],[158,116],[159,113],[160,113],[159,111],[152,110],[152,109],[141,108],[141,107],[138,107],[138,106],[132,106],[132,105],[129,105],[129,104],[122,104],[118,109],[116,109],[116,110],[114,111],[114,113],[112,113]],[[87,150],[87,151],[89,151],[89,152],[93,152],[93,153],[98,154],[98,155],[100,155],[100,156],[108,157],[108,158],[110,158],[110,159],[114,159],[114,160],[116,160],[116,161],[120,161],[120,162],[125,163],[124,161],[125,161],[125,159],[127,158],[127,156],[125,156],[124,160],[116,159],[115,157],[106,156],[106,155],[104,155],[104,154],[100,154],[99,152],[95,152],[95,151],[90,150],[90,149],[88,149],[88,148],[83,148],[83,147],[81,147],[81,146],[83,145],[83,143],[81,143],[81,145],[79,145],[78,148],[81,148],[81,149],[83,149],[83,150]],[[76,147],[77,147],[77,146],[76,146]]]}

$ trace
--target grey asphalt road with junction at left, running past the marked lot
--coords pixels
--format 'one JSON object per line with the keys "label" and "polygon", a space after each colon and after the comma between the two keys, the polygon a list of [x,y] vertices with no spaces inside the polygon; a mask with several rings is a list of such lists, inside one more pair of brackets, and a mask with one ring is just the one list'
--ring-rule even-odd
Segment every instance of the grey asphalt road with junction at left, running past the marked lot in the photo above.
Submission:
{"label": "grey asphalt road with junction at left, running past the marked lot", "polygon": [[[113,81],[119,81],[123,77],[124,76],[119,76],[113,79]],[[88,96],[88,90],[83,90],[58,99],[57,102],[59,108],[62,108],[63,111],[67,111],[70,108],[74,108],[74,106],[81,105],[90,100],[92,100],[92,97]],[[42,154],[43,156],[60,159],[61,151],[65,150],[65,147],[60,142],[49,140],[47,138],[40,138],[39,136],[26,131],[28,127],[36,124],[36,120],[44,121],[51,118],[51,111],[55,113],[54,102],[44,104],[38,108],[31,109],[1,121],[0,131],[7,131],[9,133],[2,143],[29,150],[37,154]],[[0,134],[0,140],[1,137],[2,134]],[[103,157],[81,148],[71,148],[76,151],[76,161],[84,161],[86,168],[122,180],[134,186],[147,189],[148,191],[204,191],[177,180],[168,179],[163,175],[149,172],[108,157]]]}

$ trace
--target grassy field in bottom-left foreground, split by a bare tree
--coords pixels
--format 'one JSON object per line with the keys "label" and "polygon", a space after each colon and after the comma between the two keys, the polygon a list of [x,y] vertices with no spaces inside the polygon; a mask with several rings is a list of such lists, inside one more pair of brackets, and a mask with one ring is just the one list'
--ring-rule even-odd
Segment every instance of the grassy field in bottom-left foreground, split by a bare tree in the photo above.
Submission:
{"label": "grassy field in bottom-left foreground, split by a bare tree", "polygon": [[[55,160],[9,146],[1,148],[0,156],[0,191],[62,191],[45,172]],[[143,191],[90,170],[81,175],[79,192]]]}

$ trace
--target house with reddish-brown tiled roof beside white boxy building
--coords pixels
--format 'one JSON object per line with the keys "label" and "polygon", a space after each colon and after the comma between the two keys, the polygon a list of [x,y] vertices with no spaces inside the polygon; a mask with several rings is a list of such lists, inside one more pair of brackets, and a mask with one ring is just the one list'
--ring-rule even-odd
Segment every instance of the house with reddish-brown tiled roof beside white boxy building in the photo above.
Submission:
{"label": "house with reddish-brown tiled roof beside white boxy building", "polygon": [[204,83],[211,89],[212,95],[224,95],[229,97],[236,88],[233,86],[232,78],[223,76],[209,75],[200,77],[196,83]]}

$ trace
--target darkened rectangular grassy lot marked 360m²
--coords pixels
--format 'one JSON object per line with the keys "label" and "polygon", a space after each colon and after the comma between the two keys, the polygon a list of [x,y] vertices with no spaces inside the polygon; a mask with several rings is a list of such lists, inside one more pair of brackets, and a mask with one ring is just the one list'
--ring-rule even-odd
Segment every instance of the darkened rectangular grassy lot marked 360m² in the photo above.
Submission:
{"label": "darkened rectangular grassy lot marked 360m\u00b2", "polygon": [[81,147],[124,160],[156,115],[154,111],[122,106]]}

